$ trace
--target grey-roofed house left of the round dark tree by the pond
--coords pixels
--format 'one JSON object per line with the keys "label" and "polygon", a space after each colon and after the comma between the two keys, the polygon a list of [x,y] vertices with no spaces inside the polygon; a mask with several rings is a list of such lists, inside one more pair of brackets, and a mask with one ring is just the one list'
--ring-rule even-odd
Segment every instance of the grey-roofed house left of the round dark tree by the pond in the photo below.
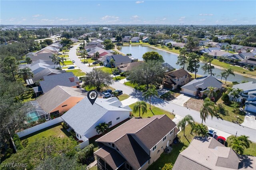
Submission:
{"label": "grey-roofed house left of the round dark tree by the pond", "polygon": [[110,59],[114,59],[114,61],[115,61],[114,67],[132,62],[130,57],[128,57],[127,55],[125,55],[125,56],[121,55],[121,54],[108,55],[108,56],[106,56],[106,59],[103,62],[105,67],[110,67]]}

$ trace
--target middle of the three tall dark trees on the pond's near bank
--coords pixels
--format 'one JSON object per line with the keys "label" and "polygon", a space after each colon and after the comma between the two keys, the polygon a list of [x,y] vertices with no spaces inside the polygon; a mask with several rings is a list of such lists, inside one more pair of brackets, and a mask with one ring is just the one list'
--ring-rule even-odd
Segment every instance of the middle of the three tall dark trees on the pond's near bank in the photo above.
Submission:
{"label": "middle of the three tall dark trees on the pond's near bank", "polygon": [[187,70],[191,73],[195,72],[195,79],[196,79],[196,73],[198,72],[198,68],[200,67],[199,64],[200,56],[196,53],[189,53],[188,54],[188,67]]}

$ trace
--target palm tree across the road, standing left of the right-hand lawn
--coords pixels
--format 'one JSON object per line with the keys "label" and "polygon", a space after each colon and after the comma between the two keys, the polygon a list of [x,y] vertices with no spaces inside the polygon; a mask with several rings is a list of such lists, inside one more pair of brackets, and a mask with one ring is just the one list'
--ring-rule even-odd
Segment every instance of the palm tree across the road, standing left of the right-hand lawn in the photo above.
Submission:
{"label": "palm tree across the road, standing left of the right-hand lawn", "polygon": [[200,117],[202,119],[202,124],[203,124],[203,121],[205,122],[205,120],[208,119],[209,114],[211,115],[211,117],[213,117],[214,115],[213,107],[214,107],[214,102],[212,102],[210,98],[206,97],[204,99],[203,106],[200,109]]}

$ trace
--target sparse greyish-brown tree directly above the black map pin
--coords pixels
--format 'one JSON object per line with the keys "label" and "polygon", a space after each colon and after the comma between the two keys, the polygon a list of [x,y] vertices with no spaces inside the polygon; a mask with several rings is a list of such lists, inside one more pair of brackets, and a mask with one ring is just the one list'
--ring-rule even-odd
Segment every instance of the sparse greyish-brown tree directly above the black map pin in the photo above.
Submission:
{"label": "sparse greyish-brown tree directly above the black map pin", "polygon": [[91,72],[86,73],[83,79],[84,83],[82,87],[96,87],[97,91],[100,91],[102,87],[108,87],[113,83],[113,79],[109,73],[102,71],[101,69],[92,69]]}

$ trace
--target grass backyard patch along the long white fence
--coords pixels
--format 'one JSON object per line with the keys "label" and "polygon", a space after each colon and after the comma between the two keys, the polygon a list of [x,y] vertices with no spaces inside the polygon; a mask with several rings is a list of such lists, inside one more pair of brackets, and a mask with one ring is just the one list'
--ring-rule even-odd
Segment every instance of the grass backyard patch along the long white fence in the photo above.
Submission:
{"label": "grass backyard patch along the long white fence", "polygon": [[20,138],[20,140],[22,140],[22,142],[28,142],[29,144],[36,141],[36,139],[40,139],[43,137],[47,138],[50,136],[68,138],[69,136],[71,136],[71,134],[65,128],[63,128],[60,123],[58,123],[56,125],[52,125],[50,127],[38,130],[37,132],[24,136]]}

